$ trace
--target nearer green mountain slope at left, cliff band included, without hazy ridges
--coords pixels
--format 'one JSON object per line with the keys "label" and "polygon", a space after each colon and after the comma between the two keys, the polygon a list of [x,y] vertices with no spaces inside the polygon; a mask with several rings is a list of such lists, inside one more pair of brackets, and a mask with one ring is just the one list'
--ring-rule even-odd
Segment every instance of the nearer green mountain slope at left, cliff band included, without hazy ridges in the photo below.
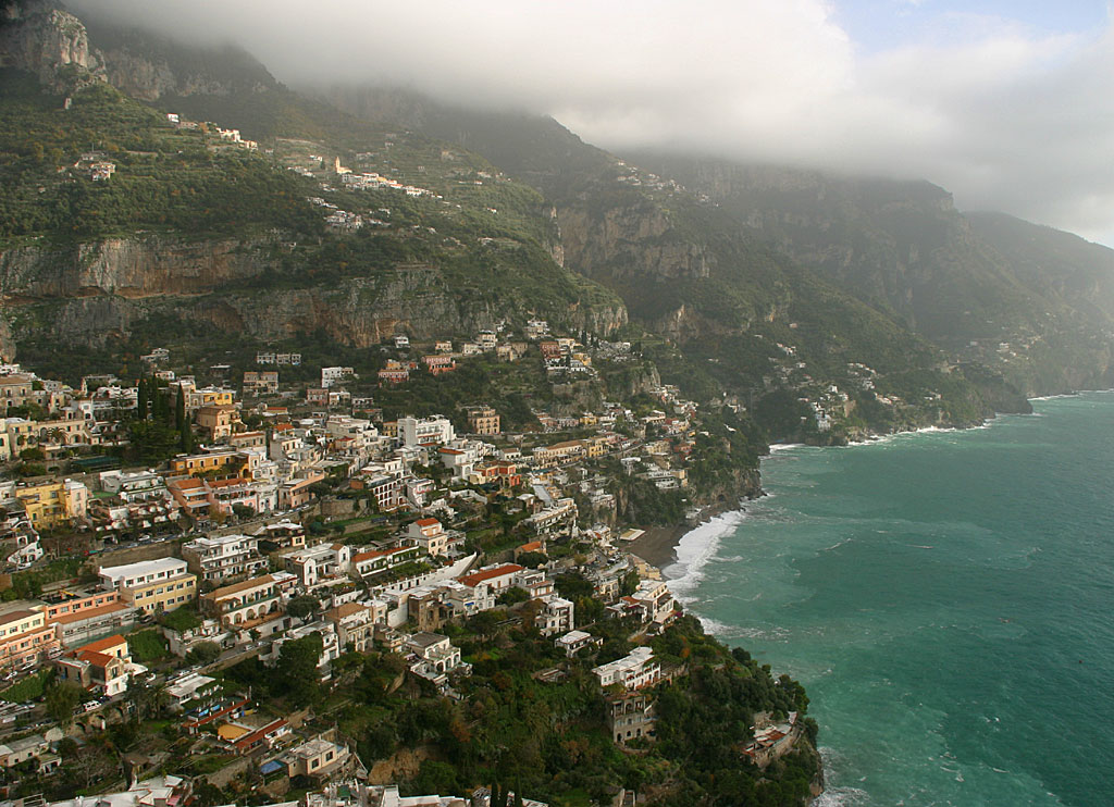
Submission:
{"label": "nearer green mountain slope at left, cliff band included, without hazy ridges", "polygon": [[[6,26],[4,41],[21,42],[9,55],[49,52],[53,23],[88,41],[79,20],[43,11]],[[133,66],[159,52],[124,39]],[[245,83],[225,81],[218,62],[183,52],[136,76],[159,77],[170,92],[160,100],[189,98],[229,117],[213,125],[205,121],[215,116],[180,114],[175,124],[104,80],[118,50],[89,47],[85,65],[48,71],[45,88],[38,73],[2,69],[7,357],[21,350],[61,361],[70,354],[56,347],[76,339],[104,361],[157,333],[152,323],[214,345],[323,333],[367,347],[397,332],[459,336],[534,314],[599,335],[626,321],[617,297],[554,259],[555,225],[537,191],[496,176],[481,158],[335,109],[321,115],[323,105],[262,68]],[[242,72],[244,60],[228,63]],[[211,71],[204,80],[188,72],[197,65]],[[187,71],[173,73],[180,66]],[[56,78],[65,95],[51,91]],[[240,105],[244,96],[254,106]],[[287,106],[272,105],[275,97]],[[246,141],[253,132],[240,139],[232,129],[253,109],[268,110],[295,137],[274,134],[258,148]],[[341,157],[391,184],[345,185],[334,171]],[[326,226],[328,216],[340,222]],[[67,377],[79,370],[67,367]]]}

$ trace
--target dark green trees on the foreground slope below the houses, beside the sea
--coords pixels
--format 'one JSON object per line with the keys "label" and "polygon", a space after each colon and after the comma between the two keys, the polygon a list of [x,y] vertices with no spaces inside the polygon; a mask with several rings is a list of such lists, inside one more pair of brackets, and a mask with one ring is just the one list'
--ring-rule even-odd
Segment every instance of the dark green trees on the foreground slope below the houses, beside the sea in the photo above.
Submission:
{"label": "dark green trees on the foreground slope below the houses, beside the sea", "polygon": [[[566,596],[574,594],[569,584],[566,581]],[[782,719],[789,711],[803,713],[804,691],[788,677],[774,680],[768,667],[745,652],[729,651],[705,636],[694,618],[682,619],[653,640],[658,657],[666,665],[683,666],[687,675],[655,690],[657,742],[635,744],[637,748],[624,751],[610,739],[606,693],[588,668],[627,652],[632,626],[597,622],[592,631],[606,638],[604,648],[565,665],[564,655],[528,620],[508,628],[505,614],[480,617],[467,627],[444,629],[473,665],[472,676],[456,683],[463,701],[404,682],[401,660],[390,653],[344,657],[338,663],[344,683],[330,693],[312,675],[320,649],[313,636],[283,646],[276,675],[252,660],[231,668],[227,682],[251,686],[258,697],[313,705],[329,713],[356,738],[368,765],[398,752],[418,755],[423,761],[404,793],[467,793],[501,783],[555,807],[605,803],[617,783],[642,798],[653,796],[656,804],[677,807],[789,807],[808,797],[818,770],[811,747],[764,772],[741,754],[755,712]],[[541,670],[560,667],[565,672],[555,682],[537,678]],[[808,726],[813,732],[814,724]]]}

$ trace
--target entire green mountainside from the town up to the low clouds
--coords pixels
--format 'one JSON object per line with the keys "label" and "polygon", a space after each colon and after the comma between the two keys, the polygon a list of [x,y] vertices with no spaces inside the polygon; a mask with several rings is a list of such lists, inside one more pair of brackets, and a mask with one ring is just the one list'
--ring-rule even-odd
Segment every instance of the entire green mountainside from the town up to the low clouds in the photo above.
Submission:
{"label": "entire green mountainside from the town up to the low clouds", "polygon": [[[773,439],[821,441],[800,424],[831,387],[846,398],[828,402],[838,436],[974,423],[1025,410],[1023,393],[1108,384],[1108,250],[1033,228],[1045,252],[1026,262],[935,186],[619,159],[548,119],[401,90],[311,98],[233,49],[95,22],[86,35],[71,17],[43,36],[36,19],[9,21],[0,48],[47,90],[6,77],[9,353],[75,336],[115,350],[150,323],[365,347],[535,314],[625,328],[664,381],[749,407]],[[66,63],[48,69],[58,39]],[[63,110],[68,73],[91,86]],[[152,107],[238,128],[258,150]],[[111,183],[68,168],[86,142],[118,163]],[[426,193],[354,194],[333,159]],[[310,198],[380,219],[329,230]]]}

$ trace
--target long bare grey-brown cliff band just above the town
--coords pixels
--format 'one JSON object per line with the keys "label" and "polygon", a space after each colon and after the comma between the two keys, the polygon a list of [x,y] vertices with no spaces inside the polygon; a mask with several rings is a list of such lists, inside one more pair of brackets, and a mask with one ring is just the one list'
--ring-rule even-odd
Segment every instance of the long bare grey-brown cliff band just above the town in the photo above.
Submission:
{"label": "long bare grey-brown cliff band just above the town", "polygon": [[[300,288],[274,281],[277,239],[111,238],[0,253],[3,314],[20,338],[104,345],[155,316],[273,342],[323,332],[369,347],[409,333],[433,338],[494,327],[520,314],[512,301],[465,299],[432,266],[401,265]],[[606,336],[626,323],[620,305],[574,306],[577,328]],[[16,345],[4,322],[0,354]]]}

